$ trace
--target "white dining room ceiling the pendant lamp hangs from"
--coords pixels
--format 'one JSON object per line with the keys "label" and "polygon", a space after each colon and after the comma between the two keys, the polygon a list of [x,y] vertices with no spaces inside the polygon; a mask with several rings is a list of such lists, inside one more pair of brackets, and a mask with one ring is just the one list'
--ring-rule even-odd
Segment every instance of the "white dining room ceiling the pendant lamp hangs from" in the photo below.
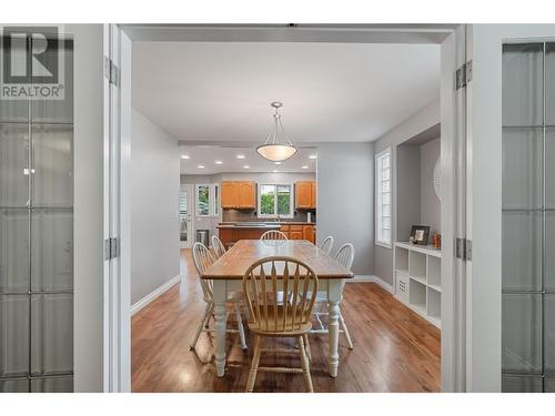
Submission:
{"label": "white dining room ceiling the pendant lamp hangs from", "polygon": [[432,44],[135,42],[133,105],[179,141],[365,142],[440,97]]}

